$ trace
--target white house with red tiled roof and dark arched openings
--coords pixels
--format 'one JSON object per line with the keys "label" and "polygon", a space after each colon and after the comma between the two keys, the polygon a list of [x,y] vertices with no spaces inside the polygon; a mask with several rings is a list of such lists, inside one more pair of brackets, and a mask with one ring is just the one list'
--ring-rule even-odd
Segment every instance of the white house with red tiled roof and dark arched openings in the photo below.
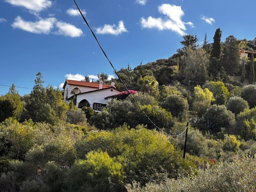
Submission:
{"label": "white house with red tiled roof and dark arched openings", "polygon": [[120,93],[120,90],[116,89],[114,85],[114,82],[107,85],[102,81],[93,83],[66,79],[63,86],[64,101],[70,103],[73,100],[80,109],[86,106],[100,111],[103,106],[106,106],[111,96]]}

